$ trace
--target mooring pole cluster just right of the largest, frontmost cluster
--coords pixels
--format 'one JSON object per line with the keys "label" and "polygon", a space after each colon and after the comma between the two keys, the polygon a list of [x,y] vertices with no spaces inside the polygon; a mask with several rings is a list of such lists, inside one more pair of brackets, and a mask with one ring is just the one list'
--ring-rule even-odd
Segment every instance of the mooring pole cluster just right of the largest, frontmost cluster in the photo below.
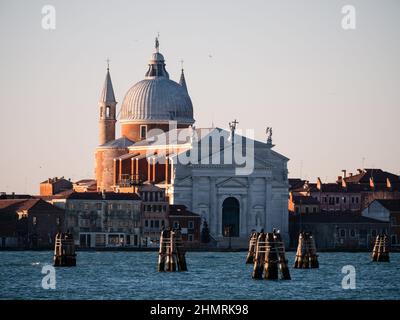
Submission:
{"label": "mooring pole cluster just right of the largest, frontmost cluster", "polygon": [[297,269],[319,268],[317,248],[311,232],[300,232],[294,267]]}

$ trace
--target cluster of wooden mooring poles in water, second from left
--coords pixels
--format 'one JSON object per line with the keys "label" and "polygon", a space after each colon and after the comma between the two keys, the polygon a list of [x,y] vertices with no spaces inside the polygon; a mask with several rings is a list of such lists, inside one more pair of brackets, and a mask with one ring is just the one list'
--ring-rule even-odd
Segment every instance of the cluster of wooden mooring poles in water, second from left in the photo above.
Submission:
{"label": "cluster of wooden mooring poles in water, second from left", "polygon": [[161,230],[158,271],[187,271],[180,228]]}

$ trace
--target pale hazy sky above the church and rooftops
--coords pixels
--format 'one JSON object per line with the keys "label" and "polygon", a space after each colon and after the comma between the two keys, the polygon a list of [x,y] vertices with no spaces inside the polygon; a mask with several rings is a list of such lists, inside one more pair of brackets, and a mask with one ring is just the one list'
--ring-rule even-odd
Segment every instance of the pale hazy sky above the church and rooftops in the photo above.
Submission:
{"label": "pale hazy sky above the church and rooftops", "polygon": [[0,0],[0,191],[94,176],[106,59],[119,110],[158,32],[171,79],[184,60],[197,127],[237,119],[264,141],[273,127],[289,177],[400,174],[398,0]]}

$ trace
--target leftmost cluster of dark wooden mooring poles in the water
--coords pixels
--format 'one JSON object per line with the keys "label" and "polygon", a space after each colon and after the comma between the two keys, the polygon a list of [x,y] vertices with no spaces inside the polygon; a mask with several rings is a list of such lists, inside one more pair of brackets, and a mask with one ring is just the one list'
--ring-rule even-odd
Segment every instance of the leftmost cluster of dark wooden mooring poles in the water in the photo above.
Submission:
{"label": "leftmost cluster of dark wooden mooring poles in the water", "polygon": [[58,232],[54,246],[54,266],[55,267],[75,267],[76,254],[75,243],[72,234]]}

